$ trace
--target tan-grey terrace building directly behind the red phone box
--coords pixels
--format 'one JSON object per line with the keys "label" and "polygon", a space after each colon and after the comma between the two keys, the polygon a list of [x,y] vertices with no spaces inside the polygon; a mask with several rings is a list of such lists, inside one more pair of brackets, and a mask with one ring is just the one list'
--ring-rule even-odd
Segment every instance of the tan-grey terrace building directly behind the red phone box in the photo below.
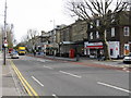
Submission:
{"label": "tan-grey terrace building directly behind the red phone box", "polygon": [[70,57],[73,50],[74,56],[84,54],[84,41],[87,40],[87,23],[78,20],[75,23],[64,27],[60,32],[61,53]]}

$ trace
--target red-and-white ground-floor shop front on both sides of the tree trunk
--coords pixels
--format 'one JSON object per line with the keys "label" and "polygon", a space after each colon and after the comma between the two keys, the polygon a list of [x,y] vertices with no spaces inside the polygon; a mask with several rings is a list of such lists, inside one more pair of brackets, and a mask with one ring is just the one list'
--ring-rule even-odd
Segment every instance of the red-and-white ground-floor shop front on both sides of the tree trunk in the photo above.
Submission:
{"label": "red-and-white ground-floor shop front on both sides of the tree trunk", "polygon": [[[108,41],[110,58],[119,57],[119,41]],[[103,42],[85,42],[84,53],[90,58],[98,58],[99,54],[104,54]]]}

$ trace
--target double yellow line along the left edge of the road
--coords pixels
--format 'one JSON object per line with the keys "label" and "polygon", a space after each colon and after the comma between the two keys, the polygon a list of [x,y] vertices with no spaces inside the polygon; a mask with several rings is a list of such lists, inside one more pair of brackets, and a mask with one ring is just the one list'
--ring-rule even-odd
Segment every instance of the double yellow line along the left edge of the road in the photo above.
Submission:
{"label": "double yellow line along the left edge of the road", "polygon": [[11,66],[13,68],[14,72],[16,73],[19,79],[21,81],[22,85],[24,86],[25,90],[27,91],[28,96],[39,98],[38,94],[33,89],[33,87],[27,83],[27,81],[23,77],[22,73],[15,66],[13,61],[10,60]]}

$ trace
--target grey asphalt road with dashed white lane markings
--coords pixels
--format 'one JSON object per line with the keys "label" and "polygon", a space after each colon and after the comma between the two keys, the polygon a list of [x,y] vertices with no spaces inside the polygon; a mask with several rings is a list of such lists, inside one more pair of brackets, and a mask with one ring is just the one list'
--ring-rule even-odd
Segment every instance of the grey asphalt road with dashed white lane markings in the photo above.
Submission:
{"label": "grey asphalt road with dashed white lane markings", "polygon": [[[129,73],[22,56],[12,60],[39,96],[129,96]],[[57,98],[57,97],[56,97]]]}

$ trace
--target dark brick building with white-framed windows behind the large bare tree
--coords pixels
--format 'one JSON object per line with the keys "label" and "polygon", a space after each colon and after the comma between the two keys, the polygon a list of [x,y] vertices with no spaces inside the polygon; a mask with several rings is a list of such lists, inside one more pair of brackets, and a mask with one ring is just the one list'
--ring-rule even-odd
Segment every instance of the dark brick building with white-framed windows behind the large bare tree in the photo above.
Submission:
{"label": "dark brick building with white-framed windows behind the large bare tree", "polygon": [[[96,20],[96,25],[100,26],[98,20]],[[100,33],[88,25],[87,34],[88,41],[85,42],[84,53],[92,58],[97,58],[99,52],[104,52]],[[111,26],[106,29],[106,38],[111,58],[123,57],[131,51],[131,23],[126,12],[119,13],[119,22],[112,22]]]}

